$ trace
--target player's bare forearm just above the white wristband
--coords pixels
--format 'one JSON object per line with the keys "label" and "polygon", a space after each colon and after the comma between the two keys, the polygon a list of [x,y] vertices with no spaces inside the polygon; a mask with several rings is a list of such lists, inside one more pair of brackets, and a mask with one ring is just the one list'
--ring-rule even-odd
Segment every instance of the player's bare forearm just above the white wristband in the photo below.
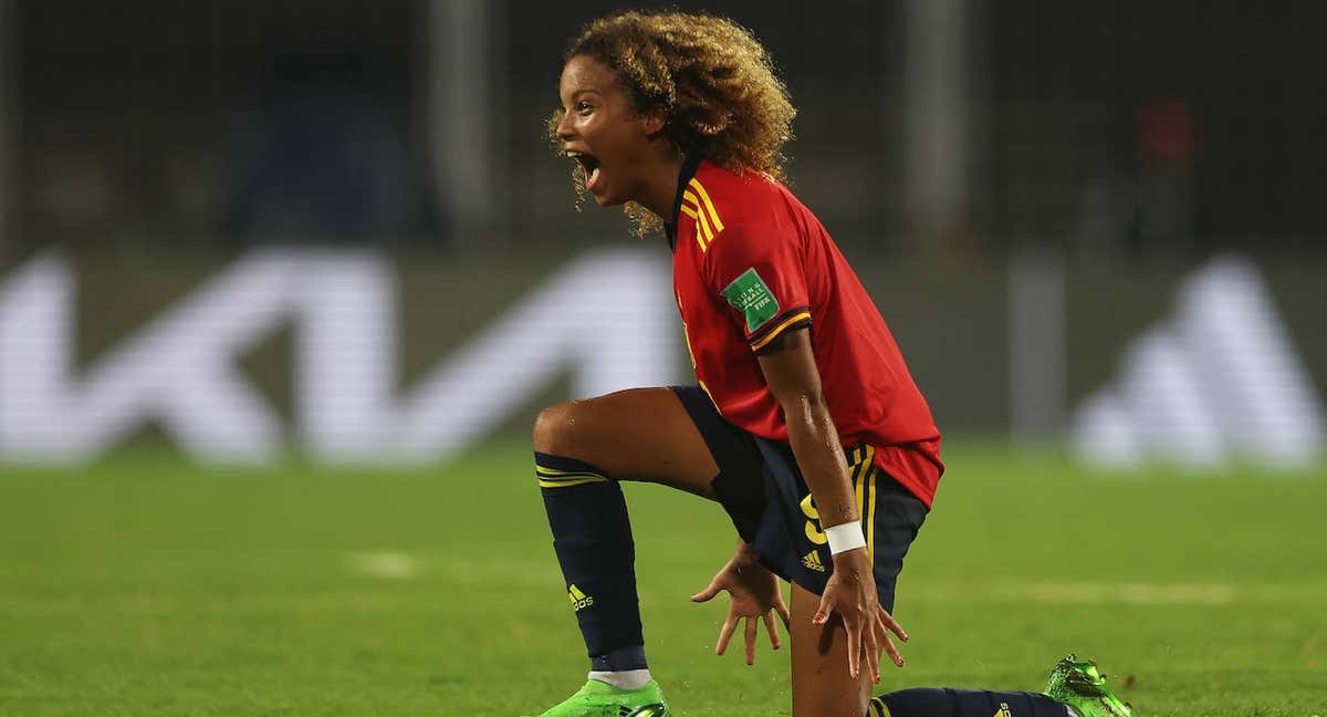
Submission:
{"label": "player's bare forearm just above the white wristband", "polygon": [[788,424],[788,443],[816,502],[820,526],[860,520],[848,463],[824,397],[817,393],[794,396],[783,404],[783,414]]}

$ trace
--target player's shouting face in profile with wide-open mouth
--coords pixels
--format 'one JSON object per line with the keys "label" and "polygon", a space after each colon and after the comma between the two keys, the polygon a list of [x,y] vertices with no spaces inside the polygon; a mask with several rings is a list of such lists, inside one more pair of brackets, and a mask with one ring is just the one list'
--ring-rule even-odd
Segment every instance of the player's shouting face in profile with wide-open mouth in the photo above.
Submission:
{"label": "player's shouting face in profile with wide-open mouth", "polygon": [[580,162],[585,189],[600,206],[637,199],[645,182],[652,118],[633,112],[613,70],[591,57],[573,57],[559,88],[561,150]]}

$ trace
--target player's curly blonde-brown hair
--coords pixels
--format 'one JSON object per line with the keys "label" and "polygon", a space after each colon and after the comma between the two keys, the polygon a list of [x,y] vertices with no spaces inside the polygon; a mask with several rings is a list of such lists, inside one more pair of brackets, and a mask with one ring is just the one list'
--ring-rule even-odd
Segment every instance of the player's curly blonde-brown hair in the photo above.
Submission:
{"label": "player's curly blonde-brown hair", "polygon": [[[787,181],[783,146],[792,139],[798,110],[748,29],[711,15],[625,12],[585,25],[563,60],[580,56],[616,72],[637,113],[662,109],[662,134],[682,154]],[[555,146],[563,112],[549,118]],[[642,231],[657,226],[640,207],[628,206],[628,212]]]}

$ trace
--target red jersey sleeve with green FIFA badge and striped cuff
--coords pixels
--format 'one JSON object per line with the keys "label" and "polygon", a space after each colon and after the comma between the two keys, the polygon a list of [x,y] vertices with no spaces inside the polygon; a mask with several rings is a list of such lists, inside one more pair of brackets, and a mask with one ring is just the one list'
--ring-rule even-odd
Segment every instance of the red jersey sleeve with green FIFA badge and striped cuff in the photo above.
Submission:
{"label": "red jersey sleeve with green FIFA badge and striped cuff", "polygon": [[726,227],[705,252],[702,275],[756,353],[782,333],[811,325],[805,270],[792,238]]}

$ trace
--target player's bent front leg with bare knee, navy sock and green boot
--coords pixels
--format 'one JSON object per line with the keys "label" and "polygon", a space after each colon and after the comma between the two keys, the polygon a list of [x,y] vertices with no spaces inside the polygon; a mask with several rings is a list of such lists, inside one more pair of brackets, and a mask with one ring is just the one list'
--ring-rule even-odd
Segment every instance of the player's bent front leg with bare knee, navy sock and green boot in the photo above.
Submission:
{"label": "player's bent front leg with bare knee, navy sock and green boot", "polygon": [[[634,544],[618,481],[714,498],[718,466],[678,396],[633,389],[545,409],[535,463],[553,548],[591,657],[591,678],[547,717],[620,717],[656,705],[636,595]],[[625,709],[624,709],[625,708]]]}

